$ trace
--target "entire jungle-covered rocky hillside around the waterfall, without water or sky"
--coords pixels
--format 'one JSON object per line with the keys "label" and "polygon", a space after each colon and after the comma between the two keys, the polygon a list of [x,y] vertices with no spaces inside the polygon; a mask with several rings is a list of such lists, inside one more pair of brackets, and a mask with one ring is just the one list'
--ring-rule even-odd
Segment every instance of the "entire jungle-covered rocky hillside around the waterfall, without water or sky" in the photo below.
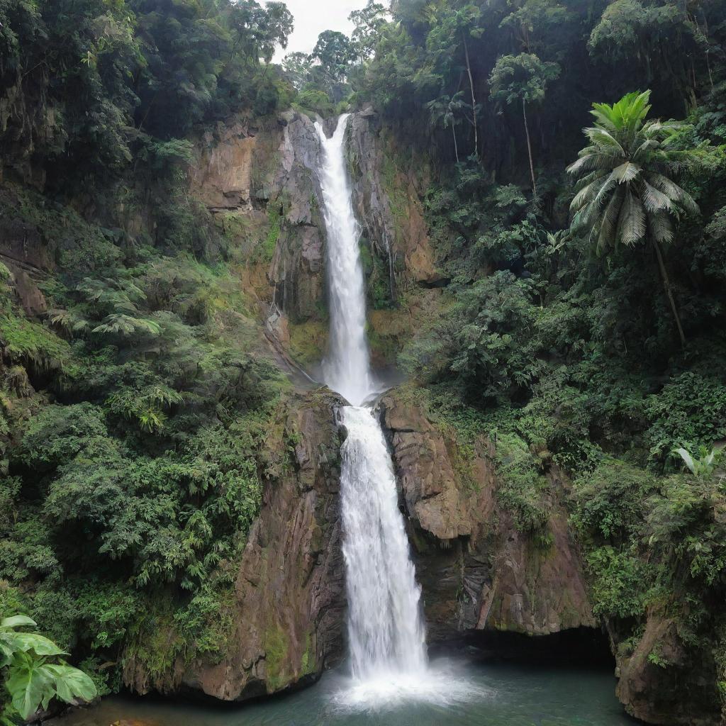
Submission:
{"label": "entire jungle-covered rocky hillside around the waterfall, without water or sky", "polygon": [[294,20],[0,0],[0,722],[346,663],[349,114],[429,648],[597,651],[622,714],[722,724],[726,3],[368,0],[285,54]]}

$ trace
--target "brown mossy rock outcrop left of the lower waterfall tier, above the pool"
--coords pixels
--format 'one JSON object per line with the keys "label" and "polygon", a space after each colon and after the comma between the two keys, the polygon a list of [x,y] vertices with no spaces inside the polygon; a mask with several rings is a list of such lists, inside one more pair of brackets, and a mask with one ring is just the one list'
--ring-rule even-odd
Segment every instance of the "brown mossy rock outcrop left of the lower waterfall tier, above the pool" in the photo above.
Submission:
{"label": "brown mossy rock outcrop left of the lower waterfall tier, above the pool", "polygon": [[126,685],[139,693],[187,688],[236,701],[311,682],[339,660],[346,606],[335,423],[340,402],[325,390],[289,402],[286,430],[298,441],[294,462],[265,486],[237,572],[221,661],[180,657],[174,672],[156,681],[127,656]]}

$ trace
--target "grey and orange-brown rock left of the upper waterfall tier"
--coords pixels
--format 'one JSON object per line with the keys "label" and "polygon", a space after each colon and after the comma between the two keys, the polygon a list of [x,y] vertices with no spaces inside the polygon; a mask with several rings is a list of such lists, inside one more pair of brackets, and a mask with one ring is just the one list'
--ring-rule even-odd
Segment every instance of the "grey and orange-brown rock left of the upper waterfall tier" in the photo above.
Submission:
{"label": "grey and orange-brown rock left of the upper waterfall tier", "polygon": [[319,137],[305,115],[286,112],[261,126],[219,124],[197,144],[190,191],[238,229],[248,266],[266,266],[258,296],[293,322],[321,315],[325,226],[317,178]]}

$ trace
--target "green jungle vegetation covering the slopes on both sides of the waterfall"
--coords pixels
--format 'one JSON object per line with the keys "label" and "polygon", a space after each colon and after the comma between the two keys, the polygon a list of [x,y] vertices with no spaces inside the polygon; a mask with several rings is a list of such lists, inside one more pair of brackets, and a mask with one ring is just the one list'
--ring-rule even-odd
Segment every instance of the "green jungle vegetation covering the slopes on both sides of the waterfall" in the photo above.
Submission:
{"label": "green jungle vegetation covering the slopes on both sides of the waterfall", "polygon": [[[436,289],[391,290],[401,257],[364,242],[375,353],[397,354],[462,480],[489,438],[499,505],[543,554],[571,481],[619,652],[672,622],[648,662],[726,703],[725,5],[370,0],[351,20],[280,68],[281,3],[0,2],[0,234],[47,303],[26,312],[8,253],[1,614],[32,616],[99,693],[224,658],[295,437],[243,282],[281,219],[212,221],[187,164],[232,114],[371,103],[390,241],[418,189],[438,267]],[[325,327],[290,325],[290,350],[319,359]],[[287,645],[272,627],[272,685]]]}

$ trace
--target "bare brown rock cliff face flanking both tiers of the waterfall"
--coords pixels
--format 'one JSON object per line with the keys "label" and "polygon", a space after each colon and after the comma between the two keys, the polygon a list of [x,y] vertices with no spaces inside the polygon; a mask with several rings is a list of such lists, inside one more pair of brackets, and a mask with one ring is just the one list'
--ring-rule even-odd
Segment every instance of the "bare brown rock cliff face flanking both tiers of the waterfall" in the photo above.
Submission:
{"label": "bare brown rock cliff face flanking both tiers of the waterfall", "polygon": [[[429,289],[438,278],[423,221],[423,190],[416,186],[425,180],[393,163],[394,152],[372,113],[353,115],[348,134],[354,204],[364,237],[377,245],[375,253],[390,258],[391,285],[397,280],[415,285],[420,292],[415,297],[426,300],[439,291]],[[258,129],[228,126],[203,142],[192,191],[208,208],[228,223],[243,219],[257,229],[264,229],[271,210],[279,215],[267,290],[260,289],[263,311],[273,301],[280,307],[277,333],[283,331],[285,345],[288,323],[314,317],[325,301],[325,237],[314,174],[317,131],[307,118],[290,113]],[[402,271],[397,278],[396,265]],[[401,336],[407,334],[405,327]],[[453,441],[396,393],[386,396],[381,411],[409,517],[431,639],[476,629],[545,635],[594,626],[560,498],[552,502],[554,543],[540,552],[497,505],[493,452],[486,441],[478,442],[473,461],[464,460]],[[224,663],[184,674],[187,685],[219,698],[285,688],[319,673],[340,649],[337,481],[330,481],[330,470],[318,470],[323,464],[316,448],[321,436],[331,446],[334,434],[328,423],[316,430],[313,422],[320,422],[322,410],[313,415],[303,407],[299,415],[306,422],[301,469],[306,483],[283,481],[265,494],[237,581],[235,640],[240,646]],[[325,528],[327,539],[319,534]],[[321,593],[327,605],[319,602]],[[266,655],[271,647],[276,654],[272,666]]]}

